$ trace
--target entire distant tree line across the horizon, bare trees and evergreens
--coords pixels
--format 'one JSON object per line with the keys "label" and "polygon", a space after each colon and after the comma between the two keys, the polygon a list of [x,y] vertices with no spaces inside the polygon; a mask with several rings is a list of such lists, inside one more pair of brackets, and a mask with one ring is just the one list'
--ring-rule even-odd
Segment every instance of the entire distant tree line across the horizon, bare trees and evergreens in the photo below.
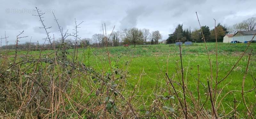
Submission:
{"label": "entire distant tree line across the horizon, bare trees and evergreens", "polygon": [[[215,29],[210,29],[209,26],[202,26],[201,27],[205,41],[207,42],[215,42]],[[234,24],[233,26],[226,26],[222,24],[218,24],[216,26],[216,32],[217,32],[217,41],[221,42],[223,41],[223,37],[226,34],[235,34],[238,31],[253,31],[256,30],[256,18],[249,18],[246,19],[240,23]],[[159,40],[162,39],[162,34],[159,31],[152,31],[150,32],[149,29],[143,28],[139,29],[137,27],[129,28],[129,29],[123,29],[120,31],[114,31],[111,36],[110,34],[107,35],[107,38],[109,38],[108,46],[120,46],[123,44],[130,44],[134,45],[140,45],[140,44],[158,44]],[[106,44],[104,43],[104,35],[101,33],[96,33],[92,35],[92,38],[84,38],[79,39],[77,41],[78,47],[104,47]],[[177,41],[193,41],[193,42],[202,42],[202,33],[201,30],[198,28],[195,28],[193,30],[191,29],[183,29],[183,24],[178,24],[178,26],[175,28],[174,32],[169,34],[169,37],[166,39],[166,43],[175,43]],[[75,45],[75,41],[71,39],[66,39],[65,43],[70,48],[73,48]],[[61,41],[56,40],[55,41],[55,47],[60,47]],[[16,48],[15,44],[8,44],[7,47],[5,45],[2,46],[2,40],[1,40],[1,46],[2,49],[14,49]],[[36,49],[36,48],[45,48],[50,49],[52,48],[49,44],[38,44],[38,43],[31,43],[31,42],[25,42],[25,43],[19,43],[18,49]]]}

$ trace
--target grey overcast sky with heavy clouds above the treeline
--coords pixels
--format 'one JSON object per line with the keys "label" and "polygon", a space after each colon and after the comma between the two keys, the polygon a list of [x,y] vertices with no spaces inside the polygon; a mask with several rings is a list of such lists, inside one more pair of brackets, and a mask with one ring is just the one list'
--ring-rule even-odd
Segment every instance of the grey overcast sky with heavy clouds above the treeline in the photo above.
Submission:
{"label": "grey overcast sky with heavy clouds above the treeline", "polygon": [[[231,26],[245,19],[256,17],[255,0],[1,0],[0,4],[0,36],[4,32],[9,36],[8,44],[13,44],[19,31],[24,30],[21,43],[29,41],[43,42],[44,29],[39,18],[32,16],[38,7],[45,11],[44,22],[52,26],[49,31],[59,37],[58,27],[51,12],[54,12],[64,30],[72,33],[74,20],[81,24],[79,35],[90,38],[95,33],[102,33],[102,23],[107,25],[110,33],[124,28],[148,28],[159,30],[163,39],[168,38],[180,23],[183,28],[199,28],[196,19],[198,13],[201,25],[214,27],[214,19],[221,24]],[[5,42],[2,42],[5,44]]]}

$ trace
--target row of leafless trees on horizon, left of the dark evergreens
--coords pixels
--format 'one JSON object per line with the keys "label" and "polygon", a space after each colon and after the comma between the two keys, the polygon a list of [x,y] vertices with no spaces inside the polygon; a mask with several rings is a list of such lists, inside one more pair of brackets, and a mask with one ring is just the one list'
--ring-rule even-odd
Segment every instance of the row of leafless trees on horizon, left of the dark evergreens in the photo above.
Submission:
{"label": "row of leafless trees on horizon, left of the dark evergreens", "polygon": [[[107,35],[108,46],[120,46],[124,44],[134,45],[141,45],[141,44],[158,44],[159,40],[162,39],[162,35],[159,31],[152,31],[150,33],[149,29],[143,28],[139,29],[137,27],[133,27],[130,29],[123,29],[121,31],[114,31],[111,36],[110,34]],[[105,47],[105,38],[103,34],[96,33],[92,35],[92,38],[83,38],[77,41],[72,39],[65,39],[64,43],[68,48],[74,48],[76,42],[77,47]],[[56,40],[54,41],[54,46],[59,48],[61,46],[61,41]],[[16,48],[16,44],[8,44],[7,47],[5,45],[1,46],[2,49],[14,49]],[[37,42],[25,42],[19,43],[18,49],[30,49],[36,50],[38,48],[41,49],[52,49],[50,44],[40,44]]]}

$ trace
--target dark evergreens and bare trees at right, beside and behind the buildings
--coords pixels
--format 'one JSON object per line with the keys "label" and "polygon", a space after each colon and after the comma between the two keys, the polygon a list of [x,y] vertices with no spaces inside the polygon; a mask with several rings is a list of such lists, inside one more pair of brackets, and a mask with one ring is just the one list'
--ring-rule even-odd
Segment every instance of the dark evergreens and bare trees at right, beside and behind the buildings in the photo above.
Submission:
{"label": "dark evergreens and bare trees at right, beside and behind the buildings", "polygon": [[[210,29],[209,26],[202,26],[201,27],[205,41],[207,42],[215,42],[215,29]],[[223,41],[223,37],[226,34],[232,33],[235,34],[238,31],[253,31],[256,30],[256,18],[249,18],[241,23],[235,24],[233,26],[226,26],[222,24],[218,24],[216,26],[216,34],[217,34],[217,41]],[[166,39],[166,43],[175,43],[177,41],[194,41],[194,42],[202,42],[202,33],[200,29],[184,29],[183,25],[178,24],[175,28],[174,32],[169,34],[169,37]]]}

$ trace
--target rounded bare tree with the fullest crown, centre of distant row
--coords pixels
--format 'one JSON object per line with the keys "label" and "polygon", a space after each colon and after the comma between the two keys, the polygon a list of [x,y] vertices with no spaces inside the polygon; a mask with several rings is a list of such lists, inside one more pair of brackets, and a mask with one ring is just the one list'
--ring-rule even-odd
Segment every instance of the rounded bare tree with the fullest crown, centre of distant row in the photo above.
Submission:
{"label": "rounded bare tree with the fullest crown, centre of distant row", "polygon": [[136,43],[143,40],[142,31],[136,27],[130,28],[128,30],[127,38],[135,47]]}

